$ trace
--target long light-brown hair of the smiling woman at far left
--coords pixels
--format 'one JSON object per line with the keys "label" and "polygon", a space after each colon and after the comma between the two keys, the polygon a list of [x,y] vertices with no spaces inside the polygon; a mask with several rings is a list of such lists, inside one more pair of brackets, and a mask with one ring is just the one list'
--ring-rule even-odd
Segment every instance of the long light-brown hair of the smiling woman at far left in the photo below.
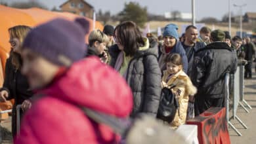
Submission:
{"label": "long light-brown hair of the smiling woman at far left", "polygon": [[[21,44],[25,39],[26,35],[28,34],[28,31],[30,30],[31,30],[31,27],[28,27],[28,26],[14,26],[8,29],[10,37],[16,37]],[[20,69],[22,65],[22,59],[20,57],[20,54],[13,52],[13,50],[11,50],[10,57],[12,58],[11,61],[14,67],[16,69]]]}

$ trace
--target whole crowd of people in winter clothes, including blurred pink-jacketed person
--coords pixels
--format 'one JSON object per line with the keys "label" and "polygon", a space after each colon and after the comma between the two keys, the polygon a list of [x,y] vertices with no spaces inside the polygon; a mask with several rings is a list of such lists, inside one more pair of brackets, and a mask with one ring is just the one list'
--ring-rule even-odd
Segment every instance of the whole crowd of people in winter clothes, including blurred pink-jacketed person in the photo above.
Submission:
{"label": "whole crowd of people in winter clothes, including blurred pink-jacketed person", "polygon": [[[167,127],[184,124],[188,112],[198,116],[209,107],[224,107],[224,75],[242,64],[244,77],[251,79],[251,39],[195,26],[179,37],[178,28],[168,24],[161,37],[143,37],[127,21],[89,33],[83,18],[11,27],[0,99],[15,99],[14,143],[117,143],[119,135],[87,117],[81,107],[120,119],[141,113],[156,118],[161,90],[170,85],[179,109],[172,122],[165,122]],[[25,113],[20,134],[15,125],[18,104]]]}

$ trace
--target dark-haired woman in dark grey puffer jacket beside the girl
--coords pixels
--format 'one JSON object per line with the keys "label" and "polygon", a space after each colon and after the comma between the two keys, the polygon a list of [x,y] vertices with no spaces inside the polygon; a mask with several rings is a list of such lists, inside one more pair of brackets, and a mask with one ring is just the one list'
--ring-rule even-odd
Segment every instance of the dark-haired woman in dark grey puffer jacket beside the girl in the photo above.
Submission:
{"label": "dark-haired woman in dark grey puffer jacket beside the girl", "polygon": [[161,71],[158,65],[158,45],[150,48],[133,22],[123,22],[114,30],[116,45],[110,47],[114,67],[133,91],[133,112],[156,117],[161,93]]}

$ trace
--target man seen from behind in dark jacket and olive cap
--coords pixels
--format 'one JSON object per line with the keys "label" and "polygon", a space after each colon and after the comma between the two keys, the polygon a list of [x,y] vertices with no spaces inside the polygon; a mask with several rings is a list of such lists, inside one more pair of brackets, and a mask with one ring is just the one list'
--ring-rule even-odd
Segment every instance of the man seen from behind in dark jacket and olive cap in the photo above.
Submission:
{"label": "man seen from behind in dark jacket and olive cap", "polygon": [[191,77],[198,88],[195,115],[200,115],[209,107],[224,107],[224,76],[235,73],[237,66],[236,52],[224,43],[224,38],[223,31],[212,31],[213,43],[196,52]]}

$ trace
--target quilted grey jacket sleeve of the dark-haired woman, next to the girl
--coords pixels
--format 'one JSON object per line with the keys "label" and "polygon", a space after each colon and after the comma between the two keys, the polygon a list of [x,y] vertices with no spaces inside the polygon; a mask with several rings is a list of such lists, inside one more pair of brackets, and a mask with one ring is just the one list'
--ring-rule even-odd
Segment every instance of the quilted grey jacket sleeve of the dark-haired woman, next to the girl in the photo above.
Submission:
{"label": "quilted grey jacket sleeve of the dark-haired woman, next to the girl", "polygon": [[161,94],[161,70],[156,56],[149,55],[144,59],[146,87],[144,89],[143,112],[156,117]]}

